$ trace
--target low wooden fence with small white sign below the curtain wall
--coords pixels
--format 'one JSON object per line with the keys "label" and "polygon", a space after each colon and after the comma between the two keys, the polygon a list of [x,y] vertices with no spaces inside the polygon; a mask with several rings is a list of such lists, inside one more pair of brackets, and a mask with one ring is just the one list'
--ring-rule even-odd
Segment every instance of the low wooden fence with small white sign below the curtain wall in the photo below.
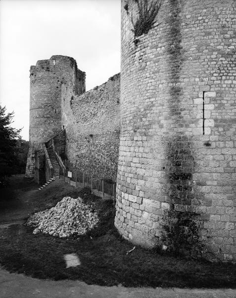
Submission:
{"label": "low wooden fence with small white sign below the curtain wall", "polygon": [[70,172],[67,170],[63,172],[63,174],[60,173],[60,179],[64,179],[70,185],[74,187],[89,187],[92,194],[103,200],[115,200],[116,183],[109,183],[106,180],[98,179],[83,172]]}

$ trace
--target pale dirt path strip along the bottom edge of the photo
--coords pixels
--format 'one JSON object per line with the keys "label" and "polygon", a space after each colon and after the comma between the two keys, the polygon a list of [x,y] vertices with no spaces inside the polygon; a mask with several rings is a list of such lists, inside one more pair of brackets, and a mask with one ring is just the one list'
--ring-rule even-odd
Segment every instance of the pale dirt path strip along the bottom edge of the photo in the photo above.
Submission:
{"label": "pale dirt path strip along the bottom edge of the photo", "polygon": [[78,281],[45,281],[0,270],[1,298],[235,298],[236,291],[88,286]]}

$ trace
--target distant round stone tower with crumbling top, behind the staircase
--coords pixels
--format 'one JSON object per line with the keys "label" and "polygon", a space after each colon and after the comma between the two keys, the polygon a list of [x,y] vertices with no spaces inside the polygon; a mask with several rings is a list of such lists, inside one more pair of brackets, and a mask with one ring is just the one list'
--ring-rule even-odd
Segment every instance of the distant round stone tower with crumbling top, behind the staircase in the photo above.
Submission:
{"label": "distant round stone tower with crumbling top, behind the staircase", "polygon": [[85,92],[85,73],[67,56],[52,56],[30,68],[30,129],[26,176],[34,176],[35,150],[61,127],[61,84],[70,84],[76,94]]}

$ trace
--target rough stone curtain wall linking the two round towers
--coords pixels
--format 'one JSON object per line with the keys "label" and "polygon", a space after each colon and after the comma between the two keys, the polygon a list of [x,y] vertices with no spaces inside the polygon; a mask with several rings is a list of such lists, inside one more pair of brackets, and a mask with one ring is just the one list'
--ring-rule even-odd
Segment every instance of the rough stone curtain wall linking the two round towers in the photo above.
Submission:
{"label": "rough stone curtain wall linking the two round towers", "polygon": [[[70,166],[116,182],[120,140],[120,74],[75,95],[62,86],[62,126]],[[70,167],[69,166],[69,167]]]}

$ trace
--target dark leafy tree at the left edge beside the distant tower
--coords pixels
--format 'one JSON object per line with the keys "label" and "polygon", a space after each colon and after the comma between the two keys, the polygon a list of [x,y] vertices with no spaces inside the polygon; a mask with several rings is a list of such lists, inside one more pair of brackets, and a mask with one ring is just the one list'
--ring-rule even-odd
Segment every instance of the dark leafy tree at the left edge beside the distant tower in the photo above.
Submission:
{"label": "dark leafy tree at the left edge beside the distant tower", "polygon": [[0,187],[4,186],[16,164],[16,138],[21,129],[11,127],[14,112],[6,113],[0,106]]}

